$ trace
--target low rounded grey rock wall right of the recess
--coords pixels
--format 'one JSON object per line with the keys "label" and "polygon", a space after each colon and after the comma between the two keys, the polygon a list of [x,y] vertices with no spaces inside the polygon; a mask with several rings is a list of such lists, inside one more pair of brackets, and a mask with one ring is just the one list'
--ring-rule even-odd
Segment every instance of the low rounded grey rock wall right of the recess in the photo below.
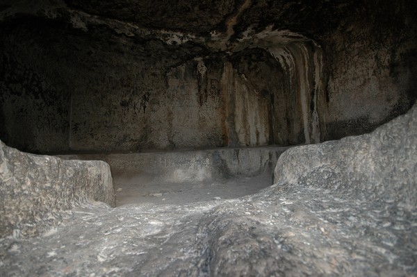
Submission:
{"label": "low rounded grey rock wall right of the recess", "polygon": [[275,183],[416,208],[417,103],[373,133],[288,149],[275,167]]}

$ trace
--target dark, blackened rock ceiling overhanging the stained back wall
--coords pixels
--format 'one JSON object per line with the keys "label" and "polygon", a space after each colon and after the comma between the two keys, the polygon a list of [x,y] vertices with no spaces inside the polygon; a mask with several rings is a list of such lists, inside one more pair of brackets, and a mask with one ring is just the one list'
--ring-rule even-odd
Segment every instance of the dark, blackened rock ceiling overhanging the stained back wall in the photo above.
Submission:
{"label": "dark, blackened rock ceiling overhanging the stained back wall", "polygon": [[375,22],[382,30],[397,23],[400,26],[404,10],[409,14],[408,21],[413,21],[416,14],[409,8],[416,3],[403,2],[3,0],[0,22],[33,15],[53,19],[53,25],[60,23],[90,33],[105,28],[122,39],[156,39],[172,46],[197,44],[210,51],[230,53],[254,47],[267,49],[269,44],[276,48],[294,40],[313,40],[322,45],[334,32],[349,33],[352,26],[366,27]]}

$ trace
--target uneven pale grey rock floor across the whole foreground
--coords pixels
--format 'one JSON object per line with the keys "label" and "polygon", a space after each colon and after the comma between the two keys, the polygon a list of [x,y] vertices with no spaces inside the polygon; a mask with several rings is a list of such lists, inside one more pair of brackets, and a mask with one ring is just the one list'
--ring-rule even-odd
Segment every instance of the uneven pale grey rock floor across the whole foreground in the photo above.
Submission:
{"label": "uneven pale grey rock floor across the whole foreground", "polygon": [[170,192],[149,188],[140,203],[131,203],[138,192],[120,185],[117,208],[76,207],[40,237],[1,239],[0,275],[416,274],[415,208],[322,187],[272,186],[238,199],[225,194],[227,185],[239,196],[265,181],[195,185],[190,194],[181,185]]}

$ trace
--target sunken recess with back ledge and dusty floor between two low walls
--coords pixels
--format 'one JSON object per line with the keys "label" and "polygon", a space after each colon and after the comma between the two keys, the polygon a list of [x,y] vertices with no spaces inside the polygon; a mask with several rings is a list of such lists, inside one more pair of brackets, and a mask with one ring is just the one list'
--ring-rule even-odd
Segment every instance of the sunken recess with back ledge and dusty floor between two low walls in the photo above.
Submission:
{"label": "sunken recess with back ledge and dusty floor between two low walls", "polygon": [[265,146],[158,153],[84,154],[111,167],[117,205],[192,203],[231,199],[272,185],[278,157],[288,147]]}

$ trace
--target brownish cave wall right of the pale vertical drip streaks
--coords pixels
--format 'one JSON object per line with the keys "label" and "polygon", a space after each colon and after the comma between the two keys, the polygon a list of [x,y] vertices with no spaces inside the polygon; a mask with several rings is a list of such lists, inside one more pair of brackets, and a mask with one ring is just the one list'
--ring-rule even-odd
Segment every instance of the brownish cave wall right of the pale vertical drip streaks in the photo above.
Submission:
{"label": "brownish cave wall right of the pale vertical drip streaks", "polygon": [[372,131],[406,112],[417,99],[416,3],[366,2],[318,43],[323,94],[322,140]]}

